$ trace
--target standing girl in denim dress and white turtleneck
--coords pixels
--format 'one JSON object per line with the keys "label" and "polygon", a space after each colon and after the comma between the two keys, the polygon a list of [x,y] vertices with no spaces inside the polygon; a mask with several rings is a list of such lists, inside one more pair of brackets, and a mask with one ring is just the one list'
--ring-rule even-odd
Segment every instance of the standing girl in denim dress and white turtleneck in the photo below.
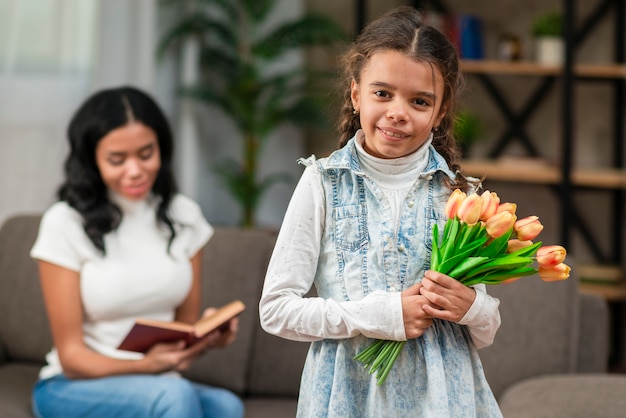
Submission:
{"label": "standing girl in denim dress and white turtleneck", "polygon": [[[302,161],[260,301],[267,332],[312,342],[300,417],[501,416],[476,353],[499,302],[428,270],[451,190],[478,186],[450,134],[458,65],[409,7],[345,55],[340,149]],[[318,297],[304,298],[313,284]],[[380,386],[353,359],[373,339],[408,340]]]}

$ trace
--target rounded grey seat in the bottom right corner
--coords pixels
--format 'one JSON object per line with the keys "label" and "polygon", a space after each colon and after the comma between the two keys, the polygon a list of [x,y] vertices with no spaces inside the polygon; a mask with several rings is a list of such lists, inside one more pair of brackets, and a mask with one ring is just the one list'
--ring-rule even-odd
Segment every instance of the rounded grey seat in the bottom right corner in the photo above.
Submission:
{"label": "rounded grey seat in the bottom right corner", "polygon": [[559,375],[511,386],[500,401],[506,418],[618,418],[626,411],[626,376]]}

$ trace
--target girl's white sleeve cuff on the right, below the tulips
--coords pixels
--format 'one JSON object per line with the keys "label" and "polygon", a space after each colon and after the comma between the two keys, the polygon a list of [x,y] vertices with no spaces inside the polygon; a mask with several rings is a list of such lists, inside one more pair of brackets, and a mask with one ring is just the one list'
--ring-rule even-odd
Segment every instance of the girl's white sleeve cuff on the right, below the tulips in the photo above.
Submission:
{"label": "girl's white sleeve cuff on the right, below the tulips", "polygon": [[486,286],[474,286],[476,299],[459,324],[466,325],[476,348],[484,348],[493,344],[498,328],[500,328],[500,301],[487,294]]}

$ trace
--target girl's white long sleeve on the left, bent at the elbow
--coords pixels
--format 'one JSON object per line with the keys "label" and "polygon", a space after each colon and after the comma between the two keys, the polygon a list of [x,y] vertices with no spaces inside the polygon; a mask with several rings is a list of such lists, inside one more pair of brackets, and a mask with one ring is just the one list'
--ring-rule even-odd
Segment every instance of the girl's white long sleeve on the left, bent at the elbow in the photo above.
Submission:
{"label": "girl's white long sleeve on the left, bent at the elbow", "polygon": [[315,278],[325,226],[319,176],[315,165],[305,169],[285,213],[259,303],[263,329],[297,341],[359,334],[405,340],[399,292],[372,292],[358,301],[305,297]]}

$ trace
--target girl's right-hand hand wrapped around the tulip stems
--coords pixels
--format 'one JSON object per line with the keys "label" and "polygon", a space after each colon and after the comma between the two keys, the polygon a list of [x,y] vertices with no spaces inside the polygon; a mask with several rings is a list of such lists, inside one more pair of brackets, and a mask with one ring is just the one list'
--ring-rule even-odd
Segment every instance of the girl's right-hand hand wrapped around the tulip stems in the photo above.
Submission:
{"label": "girl's right-hand hand wrapped around the tulip stems", "polygon": [[476,291],[445,274],[428,270],[420,294],[430,302],[422,308],[433,318],[459,322],[476,299]]}

